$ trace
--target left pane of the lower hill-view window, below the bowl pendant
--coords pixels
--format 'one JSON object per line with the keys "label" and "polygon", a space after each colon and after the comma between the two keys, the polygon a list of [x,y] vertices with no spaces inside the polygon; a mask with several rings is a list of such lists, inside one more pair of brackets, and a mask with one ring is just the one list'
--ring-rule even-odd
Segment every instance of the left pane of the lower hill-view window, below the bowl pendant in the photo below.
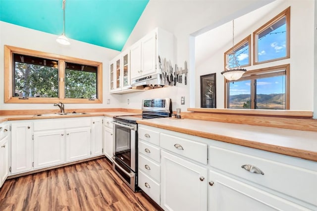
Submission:
{"label": "left pane of the lower hill-view window, below the bowl pendant", "polygon": [[228,108],[251,108],[250,84],[250,80],[229,83]]}

